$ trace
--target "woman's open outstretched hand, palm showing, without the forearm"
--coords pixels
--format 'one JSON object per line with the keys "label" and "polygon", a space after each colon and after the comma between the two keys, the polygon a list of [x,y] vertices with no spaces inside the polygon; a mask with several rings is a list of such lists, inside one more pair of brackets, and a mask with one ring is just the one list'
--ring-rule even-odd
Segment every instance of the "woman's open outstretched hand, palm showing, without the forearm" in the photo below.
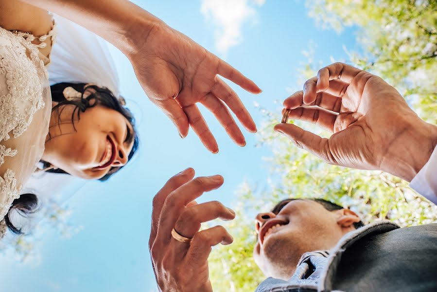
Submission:
{"label": "woman's open outstretched hand, palm showing, without the forearm", "polygon": [[148,26],[136,47],[129,59],[141,86],[172,120],[181,137],[191,126],[208,150],[218,152],[217,142],[197,108],[201,103],[236,144],[245,146],[245,137],[228,108],[249,132],[256,132],[256,125],[238,95],[219,75],[246,91],[260,93],[253,81],[163,22]]}

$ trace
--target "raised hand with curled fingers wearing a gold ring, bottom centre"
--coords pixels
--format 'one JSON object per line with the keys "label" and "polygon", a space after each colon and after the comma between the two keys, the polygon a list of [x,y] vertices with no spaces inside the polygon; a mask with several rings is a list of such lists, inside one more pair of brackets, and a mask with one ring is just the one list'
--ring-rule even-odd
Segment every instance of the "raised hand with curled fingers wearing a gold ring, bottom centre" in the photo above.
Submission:
{"label": "raised hand with curled fingers wearing a gold ring, bottom centre", "polygon": [[218,201],[194,201],[203,192],[220,187],[223,177],[193,177],[192,168],[176,174],[153,199],[149,249],[161,291],[212,291],[208,272],[211,246],[233,241],[222,226],[199,229],[201,222],[231,220],[235,213]]}

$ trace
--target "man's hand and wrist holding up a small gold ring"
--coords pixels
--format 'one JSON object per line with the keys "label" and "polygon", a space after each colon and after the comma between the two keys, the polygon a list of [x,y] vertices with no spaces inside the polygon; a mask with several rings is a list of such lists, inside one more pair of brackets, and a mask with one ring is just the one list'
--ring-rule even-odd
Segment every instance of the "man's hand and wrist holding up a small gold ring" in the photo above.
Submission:
{"label": "man's hand and wrist holding up a small gold ring", "polygon": [[329,164],[379,169],[411,181],[437,144],[422,121],[383,79],[342,63],[321,69],[284,101],[289,118],[331,131],[321,138],[292,124],[275,130]]}

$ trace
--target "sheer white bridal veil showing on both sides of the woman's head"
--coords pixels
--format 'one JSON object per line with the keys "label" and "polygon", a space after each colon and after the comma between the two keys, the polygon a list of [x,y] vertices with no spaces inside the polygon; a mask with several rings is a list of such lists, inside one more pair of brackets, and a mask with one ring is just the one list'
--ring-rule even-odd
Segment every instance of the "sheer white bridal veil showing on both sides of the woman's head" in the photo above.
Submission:
{"label": "sheer white bridal veil showing on both sides of the woman's head", "polygon": [[[53,19],[57,35],[48,67],[50,85],[95,83],[118,96],[119,77],[106,41],[66,18],[53,15]],[[67,201],[86,182],[70,175],[35,173],[22,192],[37,195],[45,208],[53,201],[57,204]]]}

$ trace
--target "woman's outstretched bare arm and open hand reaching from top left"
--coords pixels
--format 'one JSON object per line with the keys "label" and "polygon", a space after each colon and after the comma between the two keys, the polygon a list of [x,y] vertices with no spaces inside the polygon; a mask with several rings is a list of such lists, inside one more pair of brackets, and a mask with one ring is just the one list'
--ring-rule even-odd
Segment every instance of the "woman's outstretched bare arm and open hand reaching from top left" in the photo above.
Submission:
{"label": "woman's outstretched bare arm and open hand reaching from top left", "polygon": [[[131,61],[150,100],[167,114],[183,138],[189,126],[212,153],[218,145],[196,103],[212,111],[239,146],[245,137],[229,113],[256,132],[249,112],[218,75],[246,91],[261,89],[242,73],[127,0],[26,0],[86,27],[119,48]],[[225,104],[227,106],[225,106]],[[228,107],[228,108],[227,108]]]}

